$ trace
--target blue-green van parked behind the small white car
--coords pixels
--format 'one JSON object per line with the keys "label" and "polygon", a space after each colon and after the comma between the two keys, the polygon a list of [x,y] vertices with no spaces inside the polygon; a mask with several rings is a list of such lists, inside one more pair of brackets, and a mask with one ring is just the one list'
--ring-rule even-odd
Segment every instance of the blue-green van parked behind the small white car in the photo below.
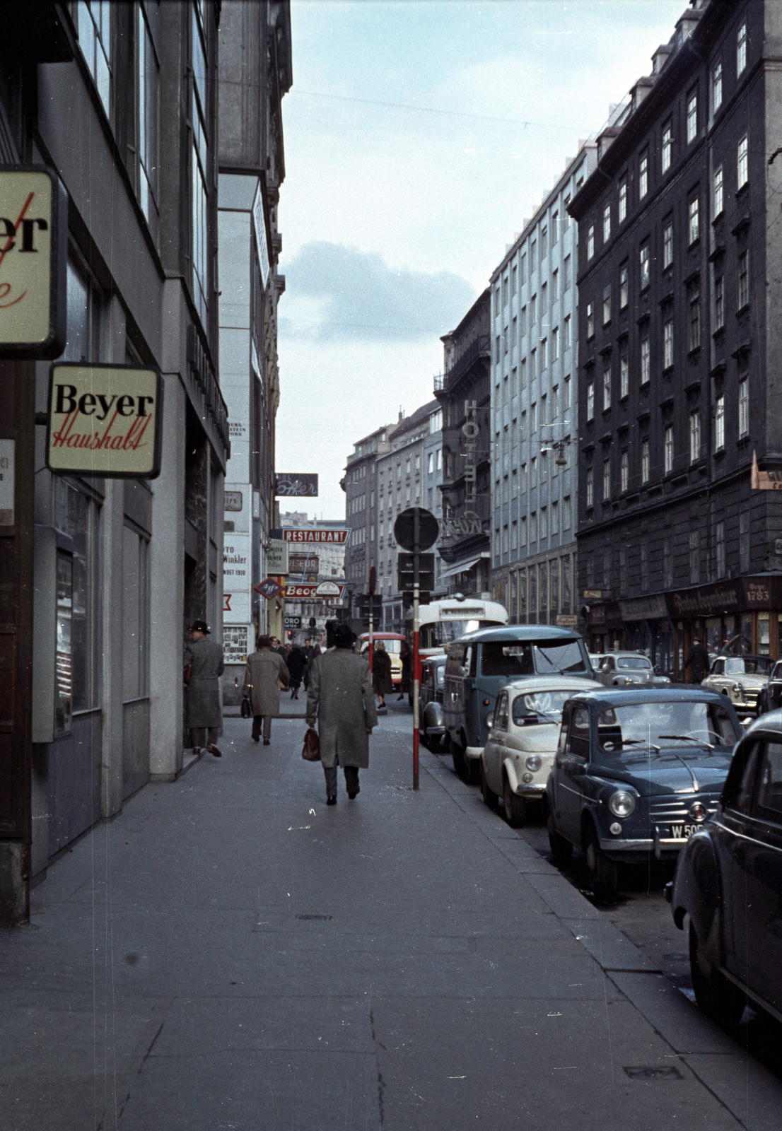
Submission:
{"label": "blue-green van parked behind the small white car", "polygon": [[485,720],[506,683],[532,675],[593,675],[578,633],[545,624],[480,629],[449,645],[447,657],[445,724],[454,769],[469,782],[478,779]]}

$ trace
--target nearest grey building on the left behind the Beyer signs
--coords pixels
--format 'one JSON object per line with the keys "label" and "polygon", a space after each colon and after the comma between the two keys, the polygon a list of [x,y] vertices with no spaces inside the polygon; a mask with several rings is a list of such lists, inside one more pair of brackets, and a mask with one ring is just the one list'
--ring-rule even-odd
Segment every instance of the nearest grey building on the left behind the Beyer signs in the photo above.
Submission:
{"label": "nearest grey building on the left behind the Beyer signs", "polygon": [[[53,854],[182,769],[184,628],[199,618],[222,632],[229,456],[216,377],[220,5],[42,2],[34,16],[36,34],[0,44],[0,162],[46,165],[68,193],[62,360],[156,365],[164,441],[152,481],[54,475],[36,426],[49,364],[0,361],[0,437],[16,456],[15,525],[0,529],[15,689],[0,758],[3,923],[25,917],[29,880]],[[33,593],[57,644],[34,634]],[[35,757],[31,719],[46,735]]]}

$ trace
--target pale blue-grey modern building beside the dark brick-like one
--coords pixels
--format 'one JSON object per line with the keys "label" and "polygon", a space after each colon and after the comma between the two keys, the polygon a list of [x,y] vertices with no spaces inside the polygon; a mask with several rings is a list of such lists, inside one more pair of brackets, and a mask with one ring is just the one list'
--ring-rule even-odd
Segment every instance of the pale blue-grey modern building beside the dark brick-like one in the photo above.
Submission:
{"label": "pale blue-grey modern building beside the dark brick-like one", "polygon": [[596,147],[568,162],[491,276],[491,584],[512,622],[574,624],[578,233],[568,206]]}

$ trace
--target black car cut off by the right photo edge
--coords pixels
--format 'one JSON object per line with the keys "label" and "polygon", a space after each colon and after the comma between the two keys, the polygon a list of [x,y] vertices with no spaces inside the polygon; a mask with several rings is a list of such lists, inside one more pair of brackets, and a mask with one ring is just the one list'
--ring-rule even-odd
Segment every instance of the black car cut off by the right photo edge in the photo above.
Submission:
{"label": "black car cut off by the right photo edge", "polygon": [[717,813],[693,836],[667,889],[688,916],[695,1000],[737,1024],[746,996],[782,1021],[782,711],[736,748]]}

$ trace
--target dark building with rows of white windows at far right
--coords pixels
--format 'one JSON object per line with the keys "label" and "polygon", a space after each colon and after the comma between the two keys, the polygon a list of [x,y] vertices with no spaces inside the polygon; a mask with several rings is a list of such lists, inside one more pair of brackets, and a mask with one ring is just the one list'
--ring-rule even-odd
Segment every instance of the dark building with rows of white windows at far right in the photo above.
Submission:
{"label": "dark building with rows of white windows at far right", "polygon": [[688,9],[572,202],[579,588],[594,646],[678,677],[695,634],[777,656],[782,9]]}

